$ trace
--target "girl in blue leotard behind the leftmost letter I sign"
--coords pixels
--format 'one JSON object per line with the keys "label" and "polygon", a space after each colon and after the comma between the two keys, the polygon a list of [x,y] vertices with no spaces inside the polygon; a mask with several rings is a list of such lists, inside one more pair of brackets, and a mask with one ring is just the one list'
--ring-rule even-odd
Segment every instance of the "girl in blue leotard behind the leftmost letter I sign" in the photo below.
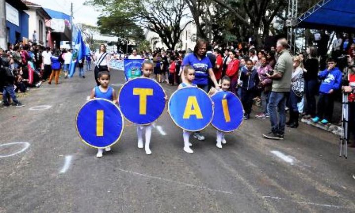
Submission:
{"label": "girl in blue leotard behind the leftmost letter I sign", "polygon": [[[92,89],[90,94],[90,99],[94,98],[103,98],[110,100],[114,103],[117,103],[117,96],[114,89],[108,86],[110,81],[110,74],[108,71],[101,71],[98,73],[97,81],[100,83],[100,86],[96,86]],[[107,146],[105,148],[106,151],[110,151],[111,147]],[[104,149],[99,148],[96,157],[101,158],[103,156]]]}

